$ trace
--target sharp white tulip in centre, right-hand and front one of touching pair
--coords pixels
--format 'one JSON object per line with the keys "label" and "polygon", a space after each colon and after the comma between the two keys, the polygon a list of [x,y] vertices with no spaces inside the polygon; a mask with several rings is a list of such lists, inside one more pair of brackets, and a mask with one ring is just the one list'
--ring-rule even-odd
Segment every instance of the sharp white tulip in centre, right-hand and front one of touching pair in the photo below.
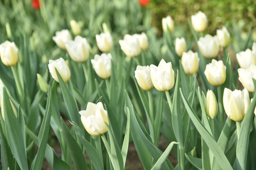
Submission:
{"label": "sharp white tulip in centre, right-hand and front one of touching pair", "polygon": [[156,67],[155,65],[150,65],[150,76],[153,85],[159,91],[167,91],[174,86],[174,70],[172,68],[172,63],[166,63],[162,59]]}

